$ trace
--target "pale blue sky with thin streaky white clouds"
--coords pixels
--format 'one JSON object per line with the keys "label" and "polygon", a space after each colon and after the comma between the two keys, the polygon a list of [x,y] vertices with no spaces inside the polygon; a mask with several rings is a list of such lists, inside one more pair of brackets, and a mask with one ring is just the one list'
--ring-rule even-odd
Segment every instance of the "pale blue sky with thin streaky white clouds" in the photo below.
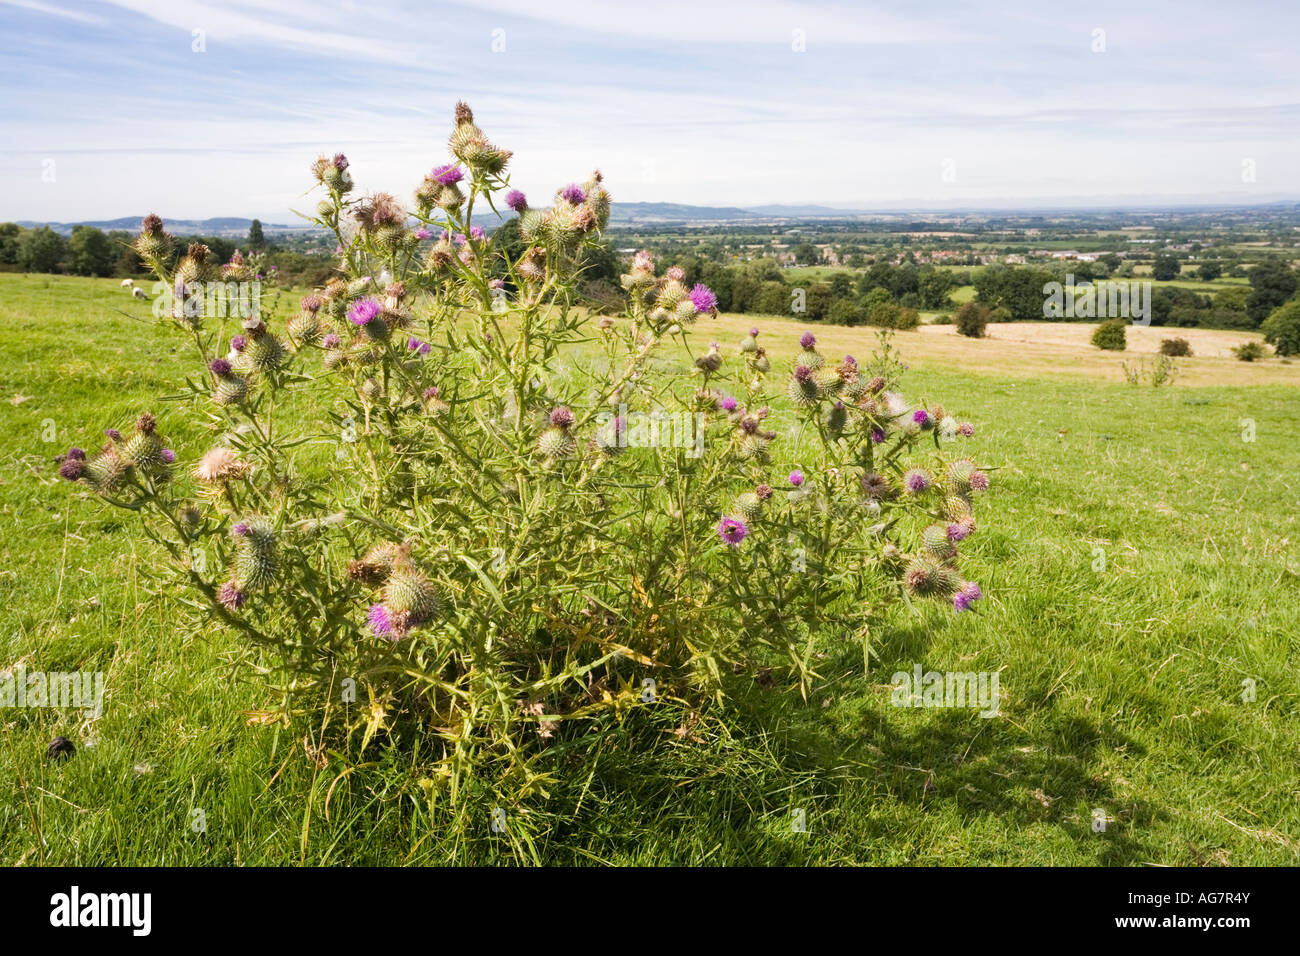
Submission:
{"label": "pale blue sky with thin streaky white clouds", "polygon": [[464,99],[550,196],[841,208],[1300,198],[1300,4],[0,0],[0,220],[410,196]]}

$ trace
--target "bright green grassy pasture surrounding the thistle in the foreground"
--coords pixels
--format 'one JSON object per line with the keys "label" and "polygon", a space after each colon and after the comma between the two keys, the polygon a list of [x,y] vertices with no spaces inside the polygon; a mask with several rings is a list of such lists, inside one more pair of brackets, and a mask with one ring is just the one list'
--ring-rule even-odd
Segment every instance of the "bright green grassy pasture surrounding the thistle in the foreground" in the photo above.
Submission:
{"label": "bright green grassy pasture surrounding the thistle in the foreground", "polygon": [[[697,328],[697,351],[750,325],[779,365],[803,328],[725,316]],[[429,826],[419,741],[321,765],[302,739],[250,722],[270,698],[237,676],[238,639],[181,626],[174,598],[150,594],[147,542],[57,480],[56,454],[143,410],[182,463],[205,450],[156,401],[192,369],[147,303],[116,281],[3,276],[0,329],[0,669],[99,670],[108,688],[99,718],[0,709],[0,861],[520,858],[486,806],[481,834]],[[1119,369],[1135,355],[1097,354],[1088,329],[896,337],[910,394],[974,421],[975,454],[997,468],[963,562],[987,596],[976,613],[890,607],[866,672],[859,643],[823,641],[806,701],[754,684],[653,748],[611,727],[598,757],[556,753],[536,808],[550,825],[523,858],[1300,862],[1300,375],[1170,330],[1197,356],[1173,388],[1139,389]],[[1160,330],[1134,332],[1149,351]],[[874,334],[818,330],[828,355],[858,358]],[[786,441],[774,475],[797,464]],[[916,663],[998,671],[1000,717],[890,706],[890,676]],[[46,760],[56,735],[72,760]]]}

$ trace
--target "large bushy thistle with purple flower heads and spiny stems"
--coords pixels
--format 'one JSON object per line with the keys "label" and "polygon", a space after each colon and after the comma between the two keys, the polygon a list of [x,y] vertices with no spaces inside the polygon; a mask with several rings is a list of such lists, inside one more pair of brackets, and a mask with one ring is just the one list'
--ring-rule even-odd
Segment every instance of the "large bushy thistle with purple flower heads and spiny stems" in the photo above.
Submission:
{"label": "large bushy thistle with purple flower heads and spiny stems", "polygon": [[[958,561],[988,470],[949,454],[974,428],[904,398],[888,333],[862,365],[809,333],[783,367],[757,328],[693,350],[716,297],[647,252],[624,315],[589,321],[602,176],[534,204],[464,104],[447,147],[410,203],[316,160],[309,219],[338,269],[292,315],[161,319],[195,359],[170,414],[204,445],[173,451],[143,414],[61,462],[139,515],[169,558],[160,591],[259,650],[240,661],[276,719],[356,752],[415,724],[448,805],[519,801],[555,740],[645,708],[646,679],[692,709],[774,666],[806,689],[811,636],[863,635],[894,600],[982,597]],[[516,256],[486,228],[504,209]],[[172,264],[156,216],[135,248],[164,282],[214,268]],[[624,407],[698,423],[702,454],[628,442]]]}

